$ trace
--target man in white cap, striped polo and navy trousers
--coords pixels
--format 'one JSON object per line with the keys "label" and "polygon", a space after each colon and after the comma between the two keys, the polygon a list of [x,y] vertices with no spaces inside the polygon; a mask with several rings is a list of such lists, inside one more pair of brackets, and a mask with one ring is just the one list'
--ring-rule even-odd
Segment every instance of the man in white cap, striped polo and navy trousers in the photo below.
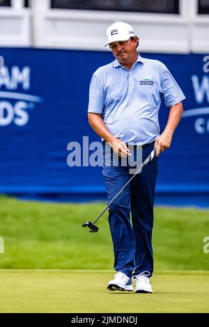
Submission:
{"label": "man in white cap, striped polo and navy trousers", "polygon": [[[109,208],[114,269],[117,273],[107,289],[132,291],[134,280],[134,292],[152,293],[151,241],[158,156],[171,145],[173,132],[183,113],[182,100],[185,96],[163,63],[139,56],[138,42],[139,38],[129,24],[116,22],[107,29],[107,45],[116,60],[98,68],[93,74],[88,122],[104,140],[104,145],[109,143],[120,158],[118,166],[104,163],[102,168],[108,202],[131,177],[130,167],[122,165],[122,159],[130,156],[131,149],[135,156],[137,144],[142,145],[143,161],[153,147],[157,147],[155,159],[134,177],[131,185]],[[162,134],[158,122],[161,99],[170,108]]]}

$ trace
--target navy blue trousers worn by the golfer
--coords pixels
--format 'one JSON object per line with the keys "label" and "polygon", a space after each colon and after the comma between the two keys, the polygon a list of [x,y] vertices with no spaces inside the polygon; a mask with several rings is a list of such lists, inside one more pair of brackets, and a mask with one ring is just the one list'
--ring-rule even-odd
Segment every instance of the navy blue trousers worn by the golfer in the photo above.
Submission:
{"label": "navy blue trousers worn by the golfer", "polygon": [[[154,143],[143,145],[142,161],[153,150]],[[136,154],[137,150],[133,150]],[[112,157],[112,154],[111,154]],[[153,206],[158,158],[155,157],[137,174],[109,207],[109,228],[114,244],[114,269],[132,277],[146,271],[153,273]],[[102,174],[107,190],[107,202],[130,180],[130,166],[104,166]],[[130,221],[130,213],[132,223]]]}

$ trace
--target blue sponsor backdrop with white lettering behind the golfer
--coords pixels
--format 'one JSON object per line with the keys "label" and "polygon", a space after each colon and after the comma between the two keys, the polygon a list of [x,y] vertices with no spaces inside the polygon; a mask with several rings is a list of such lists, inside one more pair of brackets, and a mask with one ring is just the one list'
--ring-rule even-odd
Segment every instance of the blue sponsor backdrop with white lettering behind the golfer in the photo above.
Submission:
{"label": "blue sponsor backdrop with white lettering behind the golfer", "polygon": [[[104,198],[100,167],[69,167],[67,145],[100,141],[87,121],[93,72],[109,52],[0,49],[0,193],[50,199]],[[209,206],[209,73],[202,54],[141,54],[162,61],[183,89],[185,113],[160,155],[158,203]],[[169,109],[162,104],[163,129]],[[90,151],[90,154],[92,151]]]}

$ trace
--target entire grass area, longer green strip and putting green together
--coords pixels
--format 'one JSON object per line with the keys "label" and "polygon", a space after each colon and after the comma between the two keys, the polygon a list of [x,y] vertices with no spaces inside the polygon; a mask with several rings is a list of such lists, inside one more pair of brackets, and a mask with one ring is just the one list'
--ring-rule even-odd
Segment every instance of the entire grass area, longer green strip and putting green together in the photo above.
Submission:
{"label": "entire grass area, longer green strip and putting green together", "polygon": [[114,275],[107,214],[98,233],[81,226],[104,205],[0,197],[0,312],[208,312],[209,211],[155,208],[154,294],[134,294],[106,289]]}

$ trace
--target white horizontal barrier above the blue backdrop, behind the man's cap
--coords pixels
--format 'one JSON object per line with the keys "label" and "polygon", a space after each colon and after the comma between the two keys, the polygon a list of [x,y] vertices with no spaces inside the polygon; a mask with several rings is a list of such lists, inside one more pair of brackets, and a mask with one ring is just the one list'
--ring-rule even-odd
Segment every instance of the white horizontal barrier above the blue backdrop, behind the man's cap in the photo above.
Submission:
{"label": "white horizontal barrier above the blue backdrop, behind the man's cap", "polygon": [[13,0],[0,8],[0,45],[104,50],[106,29],[125,21],[137,31],[143,52],[209,52],[209,15],[198,15],[198,0],[180,0],[180,14],[51,9],[50,0]]}

